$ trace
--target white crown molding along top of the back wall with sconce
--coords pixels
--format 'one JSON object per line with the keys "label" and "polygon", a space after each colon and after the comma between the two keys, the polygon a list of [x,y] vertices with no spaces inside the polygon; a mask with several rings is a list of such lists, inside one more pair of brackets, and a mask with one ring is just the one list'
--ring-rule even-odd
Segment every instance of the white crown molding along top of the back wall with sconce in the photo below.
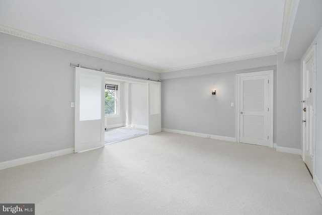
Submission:
{"label": "white crown molding along top of the back wall with sconce", "polygon": [[239,60],[248,60],[248,59],[253,59],[253,58],[258,58],[258,57],[266,57],[266,56],[276,55],[277,52],[280,52],[280,51],[283,51],[283,49],[281,47],[276,47],[270,51],[264,51],[264,52],[247,54],[247,55],[240,55],[240,56],[235,56],[235,57],[207,61],[207,62],[203,62],[203,63],[196,63],[196,64],[190,64],[190,65],[185,65],[185,66],[178,66],[178,67],[163,69],[160,71],[160,73],[168,73],[169,71],[177,71],[177,70],[188,69],[188,68],[196,68],[196,67],[220,64],[220,63],[228,63],[228,62],[239,61]]}

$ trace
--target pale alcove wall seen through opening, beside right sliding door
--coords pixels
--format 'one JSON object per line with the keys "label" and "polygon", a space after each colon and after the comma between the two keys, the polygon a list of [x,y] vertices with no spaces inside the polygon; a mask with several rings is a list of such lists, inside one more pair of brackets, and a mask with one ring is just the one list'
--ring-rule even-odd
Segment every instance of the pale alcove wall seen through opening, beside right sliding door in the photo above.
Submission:
{"label": "pale alcove wall seen through opening, beside right sliding door", "polygon": [[147,126],[147,85],[129,84],[130,124]]}

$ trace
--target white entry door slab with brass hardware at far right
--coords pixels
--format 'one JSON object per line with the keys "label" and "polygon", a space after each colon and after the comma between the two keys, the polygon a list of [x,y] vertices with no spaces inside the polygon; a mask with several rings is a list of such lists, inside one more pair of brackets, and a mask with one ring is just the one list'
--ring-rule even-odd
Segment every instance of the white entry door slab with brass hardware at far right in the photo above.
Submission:
{"label": "white entry door slab with brass hardware at far right", "polygon": [[306,62],[304,62],[305,71],[304,74],[306,76],[306,83],[303,83],[304,88],[304,129],[303,129],[303,137],[304,137],[304,162],[313,175],[313,131],[314,131],[314,55],[312,55]]}

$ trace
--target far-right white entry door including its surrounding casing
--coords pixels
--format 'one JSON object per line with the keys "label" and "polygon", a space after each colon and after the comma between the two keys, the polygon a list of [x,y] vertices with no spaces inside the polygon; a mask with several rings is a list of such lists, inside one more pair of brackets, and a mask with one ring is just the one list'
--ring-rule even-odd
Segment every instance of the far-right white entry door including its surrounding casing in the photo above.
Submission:
{"label": "far-right white entry door including its surrounding casing", "polygon": [[[302,134],[303,134],[303,161],[308,170],[314,176],[314,153],[315,153],[315,50],[314,45],[303,60],[303,111],[302,111]],[[304,102],[305,101],[305,102]],[[304,111],[305,110],[305,111]]]}

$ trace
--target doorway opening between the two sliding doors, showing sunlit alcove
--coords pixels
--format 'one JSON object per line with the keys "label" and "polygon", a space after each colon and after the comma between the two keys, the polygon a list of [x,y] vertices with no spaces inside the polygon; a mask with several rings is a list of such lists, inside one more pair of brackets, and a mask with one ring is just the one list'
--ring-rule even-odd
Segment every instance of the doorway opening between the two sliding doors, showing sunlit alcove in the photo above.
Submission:
{"label": "doorway opening between the two sliding doors, showing sunlit alcove", "polygon": [[105,83],[105,145],[147,134],[146,81],[106,75]]}

